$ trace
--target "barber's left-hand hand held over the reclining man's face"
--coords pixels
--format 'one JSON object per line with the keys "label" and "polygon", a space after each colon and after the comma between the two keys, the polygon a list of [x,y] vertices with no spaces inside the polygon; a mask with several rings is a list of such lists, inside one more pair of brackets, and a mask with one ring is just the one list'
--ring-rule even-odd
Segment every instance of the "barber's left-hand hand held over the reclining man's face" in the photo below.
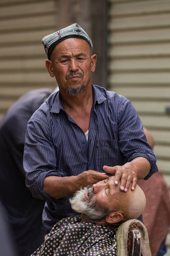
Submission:
{"label": "barber's left-hand hand held over the reclining man's face", "polygon": [[82,187],[93,185],[99,180],[107,179],[109,176],[106,173],[100,173],[94,170],[85,171],[77,176],[78,184]]}

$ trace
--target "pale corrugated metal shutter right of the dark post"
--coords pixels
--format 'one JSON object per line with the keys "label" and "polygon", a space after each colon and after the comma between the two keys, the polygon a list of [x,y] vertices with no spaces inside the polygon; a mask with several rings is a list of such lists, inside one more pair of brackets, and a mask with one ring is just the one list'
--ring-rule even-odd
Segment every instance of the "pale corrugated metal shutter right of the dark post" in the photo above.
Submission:
{"label": "pale corrugated metal shutter right of the dark post", "polygon": [[170,0],[108,3],[109,89],[132,102],[153,134],[170,187]]}

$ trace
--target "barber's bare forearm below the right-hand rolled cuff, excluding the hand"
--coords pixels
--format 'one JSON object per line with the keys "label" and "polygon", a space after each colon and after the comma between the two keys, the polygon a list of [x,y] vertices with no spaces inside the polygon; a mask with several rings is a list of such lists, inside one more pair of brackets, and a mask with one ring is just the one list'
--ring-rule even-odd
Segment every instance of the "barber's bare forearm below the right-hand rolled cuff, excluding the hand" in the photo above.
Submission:
{"label": "barber's bare forearm below the right-hand rolled cuff, excluding the hand", "polygon": [[149,174],[151,168],[148,159],[145,157],[136,157],[124,166],[132,168],[136,172],[138,179],[144,179]]}

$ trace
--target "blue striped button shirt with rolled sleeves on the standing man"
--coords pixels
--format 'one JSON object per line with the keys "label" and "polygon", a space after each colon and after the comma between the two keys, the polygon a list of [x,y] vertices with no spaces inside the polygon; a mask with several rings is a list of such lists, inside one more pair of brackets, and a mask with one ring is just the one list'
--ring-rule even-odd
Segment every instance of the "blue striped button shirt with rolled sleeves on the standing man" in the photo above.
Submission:
{"label": "blue striped button shirt with rolled sleeves on the standing man", "polygon": [[71,209],[69,196],[54,200],[45,193],[46,176],[79,175],[89,169],[103,172],[104,165],[123,165],[139,156],[151,164],[145,179],[158,170],[130,101],[99,86],[92,89],[88,142],[64,110],[59,92],[51,95],[28,122],[23,160],[26,185],[33,196],[46,200],[43,223],[47,233],[56,222],[77,213]]}

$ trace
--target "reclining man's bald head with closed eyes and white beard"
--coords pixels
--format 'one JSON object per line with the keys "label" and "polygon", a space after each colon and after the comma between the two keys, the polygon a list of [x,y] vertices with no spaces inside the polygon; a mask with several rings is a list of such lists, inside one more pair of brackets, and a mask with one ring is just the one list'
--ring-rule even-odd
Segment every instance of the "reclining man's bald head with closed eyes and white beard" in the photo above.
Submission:
{"label": "reclining man's bald head with closed eyes and white beard", "polygon": [[119,225],[137,219],[146,206],[146,198],[137,185],[135,190],[120,190],[114,176],[76,192],[70,200],[72,208],[82,213],[83,221],[104,225]]}

